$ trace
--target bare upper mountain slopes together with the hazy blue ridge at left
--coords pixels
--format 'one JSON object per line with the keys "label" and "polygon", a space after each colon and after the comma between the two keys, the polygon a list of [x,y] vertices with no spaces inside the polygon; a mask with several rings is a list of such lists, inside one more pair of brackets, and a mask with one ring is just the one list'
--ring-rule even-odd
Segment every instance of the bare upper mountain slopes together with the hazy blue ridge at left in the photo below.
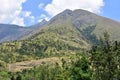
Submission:
{"label": "bare upper mountain slopes together with the hazy blue ridge at left", "polygon": [[[52,26],[50,28],[62,26],[63,28],[68,25],[76,28],[82,37],[87,39],[89,42],[91,42],[90,38],[94,37],[98,39],[105,31],[110,34],[112,40],[120,40],[119,22],[96,15],[89,11],[81,9],[71,11],[67,9],[53,17],[48,22],[46,20],[42,20],[40,23],[29,27],[0,24],[0,42],[29,38],[41,32],[43,26]],[[94,41],[95,40],[93,39],[92,42]]]}

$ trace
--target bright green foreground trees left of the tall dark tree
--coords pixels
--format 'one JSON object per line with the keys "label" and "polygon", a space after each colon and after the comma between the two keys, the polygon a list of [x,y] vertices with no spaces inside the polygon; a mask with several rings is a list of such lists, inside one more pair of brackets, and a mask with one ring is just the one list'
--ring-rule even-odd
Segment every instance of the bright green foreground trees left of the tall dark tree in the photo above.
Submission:
{"label": "bright green foreground trees left of the tall dark tree", "polygon": [[62,59],[62,64],[42,65],[22,72],[7,73],[11,80],[91,80],[88,59],[75,55]]}

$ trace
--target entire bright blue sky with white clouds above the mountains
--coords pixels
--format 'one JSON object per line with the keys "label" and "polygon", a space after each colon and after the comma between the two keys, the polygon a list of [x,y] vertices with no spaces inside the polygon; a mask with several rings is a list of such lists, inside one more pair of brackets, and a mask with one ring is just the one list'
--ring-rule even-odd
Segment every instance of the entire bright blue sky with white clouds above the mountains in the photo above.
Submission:
{"label": "entire bright blue sky with white clouds above the mountains", "polygon": [[84,9],[120,22],[120,0],[0,0],[0,23],[30,26],[65,9]]}

